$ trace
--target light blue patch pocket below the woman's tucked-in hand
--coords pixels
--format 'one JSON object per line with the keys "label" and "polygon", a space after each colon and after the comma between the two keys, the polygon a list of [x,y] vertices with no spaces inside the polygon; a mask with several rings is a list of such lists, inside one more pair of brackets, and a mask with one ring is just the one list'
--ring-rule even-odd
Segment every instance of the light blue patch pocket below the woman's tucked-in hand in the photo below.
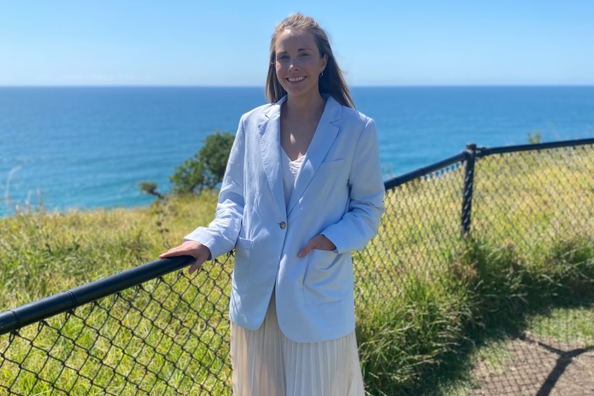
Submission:
{"label": "light blue patch pocket below the woman's tucked-in hand", "polygon": [[309,251],[303,280],[305,302],[310,305],[340,301],[349,294],[348,268],[334,251]]}

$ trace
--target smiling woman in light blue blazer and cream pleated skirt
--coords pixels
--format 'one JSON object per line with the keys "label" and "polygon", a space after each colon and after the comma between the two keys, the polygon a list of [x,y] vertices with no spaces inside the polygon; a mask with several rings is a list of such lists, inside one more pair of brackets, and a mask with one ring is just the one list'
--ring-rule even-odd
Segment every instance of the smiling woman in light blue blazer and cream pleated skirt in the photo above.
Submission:
{"label": "smiling woman in light blue blazer and cream pleated skirt", "polygon": [[216,216],[161,258],[235,249],[234,395],[364,395],[350,251],[376,234],[376,128],[356,112],[327,35],[294,14],[270,43],[267,98],[240,120]]}

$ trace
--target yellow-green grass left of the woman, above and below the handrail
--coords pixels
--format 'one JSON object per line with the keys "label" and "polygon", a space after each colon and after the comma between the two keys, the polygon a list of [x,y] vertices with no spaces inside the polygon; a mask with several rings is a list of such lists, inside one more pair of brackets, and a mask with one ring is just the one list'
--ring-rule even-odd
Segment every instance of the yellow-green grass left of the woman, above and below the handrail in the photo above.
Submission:
{"label": "yellow-green grass left of the woman, above and below the handrail", "polygon": [[[152,261],[183,231],[207,224],[215,203],[204,194],[199,205],[172,199],[150,208],[21,212],[0,220],[0,309]],[[23,394],[54,386],[70,395],[126,394],[130,384],[156,395],[225,394],[230,267],[211,264],[196,277],[172,273],[147,282],[27,326],[10,347],[10,337],[1,337],[0,394],[9,385]]]}

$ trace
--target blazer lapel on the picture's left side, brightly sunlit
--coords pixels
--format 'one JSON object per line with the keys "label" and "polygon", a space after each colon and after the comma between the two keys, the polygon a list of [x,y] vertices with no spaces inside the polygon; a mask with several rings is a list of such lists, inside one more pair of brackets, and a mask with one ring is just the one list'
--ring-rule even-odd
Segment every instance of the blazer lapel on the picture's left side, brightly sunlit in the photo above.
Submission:
{"label": "blazer lapel on the picture's left side, brightly sunlit", "polygon": [[274,103],[267,112],[265,120],[258,124],[260,134],[260,149],[262,150],[262,163],[272,196],[281,213],[285,209],[285,189],[283,187],[283,173],[280,169],[280,105],[286,100],[280,99]]}

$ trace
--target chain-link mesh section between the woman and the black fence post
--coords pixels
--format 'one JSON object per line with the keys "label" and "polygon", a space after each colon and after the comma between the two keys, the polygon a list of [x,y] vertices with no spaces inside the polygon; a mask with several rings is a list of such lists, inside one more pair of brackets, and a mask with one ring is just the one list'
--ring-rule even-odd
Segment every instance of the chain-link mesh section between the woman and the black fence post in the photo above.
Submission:
{"label": "chain-link mesh section between the woman and the black fence post", "polygon": [[[406,292],[413,279],[447,271],[460,243],[462,163],[454,163],[386,192],[378,236],[354,253],[360,303],[380,304]],[[371,264],[370,264],[371,263]]]}

